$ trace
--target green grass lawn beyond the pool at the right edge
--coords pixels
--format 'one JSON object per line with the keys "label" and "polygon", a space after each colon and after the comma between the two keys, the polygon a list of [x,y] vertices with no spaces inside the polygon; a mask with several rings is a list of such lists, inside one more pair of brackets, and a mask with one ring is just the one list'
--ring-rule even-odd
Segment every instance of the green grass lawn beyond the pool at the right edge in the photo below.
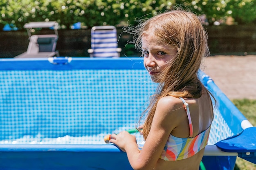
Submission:
{"label": "green grass lawn beyond the pool at the right edge", "polygon": [[[232,100],[234,105],[243,113],[243,115],[256,126],[256,100],[242,99],[242,100]],[[235,170],[256,170],[256,165],[245,161],[244,159],[236,159]]]}

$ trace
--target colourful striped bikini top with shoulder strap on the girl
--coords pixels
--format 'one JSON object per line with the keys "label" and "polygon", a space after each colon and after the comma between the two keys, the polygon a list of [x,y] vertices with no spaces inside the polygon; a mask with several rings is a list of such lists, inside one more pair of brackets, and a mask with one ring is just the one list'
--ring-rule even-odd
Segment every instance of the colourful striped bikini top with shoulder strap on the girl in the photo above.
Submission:
{"label": "colourful striped bikini top with shoulder strap on the girl", "polygon": [[160,156],[160,158],[164,159],[165,161],[176,161],[195,155],[207,145],[209,138],[211,126],[197,136],[192,137],[193,126],[189,112],[189,104],[183,98],[180,99],[184,103],[184,108],[189,119],[190,134],[189,138],[175,137],[170,134],[165,144],[164,150]]}

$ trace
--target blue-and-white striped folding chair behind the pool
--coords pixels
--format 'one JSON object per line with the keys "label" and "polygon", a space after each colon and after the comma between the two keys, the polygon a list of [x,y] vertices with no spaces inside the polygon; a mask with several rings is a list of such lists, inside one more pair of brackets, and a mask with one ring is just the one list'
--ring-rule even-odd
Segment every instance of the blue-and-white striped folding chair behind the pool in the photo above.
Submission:
{"label": "blue-and-white striped folding chair behind the pool", "polygon": [[94,26],[91,29],[90,57],[120,57],[117,48],[117,29],[115,26]]}

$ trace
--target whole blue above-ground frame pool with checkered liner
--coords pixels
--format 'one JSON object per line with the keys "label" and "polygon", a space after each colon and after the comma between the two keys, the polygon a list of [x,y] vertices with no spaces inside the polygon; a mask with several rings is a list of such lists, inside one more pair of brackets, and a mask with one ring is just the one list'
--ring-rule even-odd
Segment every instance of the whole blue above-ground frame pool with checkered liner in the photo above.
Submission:
{"label": "whole blue above-ground frame pool with checkered liner", "polygon": [[[232,170],[237,156],[254,162],[255,128],[209,76],[199,78],[217,99],[206,169]],[[136,57],[0,59],[0,169],[131,170],[103,137],[135,128],[155,87]],[[243,150],[229,147],[248,135]]]}

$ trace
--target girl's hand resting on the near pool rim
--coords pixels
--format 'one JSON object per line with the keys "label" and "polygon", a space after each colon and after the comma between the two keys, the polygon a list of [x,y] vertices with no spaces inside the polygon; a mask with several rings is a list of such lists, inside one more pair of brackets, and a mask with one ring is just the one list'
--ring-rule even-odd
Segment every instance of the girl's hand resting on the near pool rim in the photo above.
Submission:
{"label": "girl's hand resting on the near pool rim", "polygon": [[137,145],[136,137],[134,135],[131,135],[127,131],[121,131],[117,135],[112,134],[109,142],[117,145],[124,152],[126,152],[126,146],[131,144]]}

